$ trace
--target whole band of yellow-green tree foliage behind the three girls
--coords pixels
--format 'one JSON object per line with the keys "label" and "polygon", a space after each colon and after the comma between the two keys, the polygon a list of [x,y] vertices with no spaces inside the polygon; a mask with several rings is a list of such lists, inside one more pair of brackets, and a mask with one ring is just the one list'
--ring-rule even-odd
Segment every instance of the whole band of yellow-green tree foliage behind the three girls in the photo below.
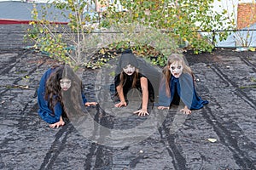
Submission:
{"label": "whole band of yellow-green tree foliage behind the three girls", "polygon": [[[101,0],[104,4],[108,1]],[[109,1],[110,2],[110,1]],[[108,61],[106,58],[91,60],[94,54],[106,50],[132,48],[138,55],[155,57],[153,64],[164,65],[166,57],[182,51],[189,44],[195,54],[211,52],[214,48],[209,37],[200,32],[230,29],[224,25],[227,11],[212,10],[213,0],[114,0],[102,13],[90,16],[95,1],[62,0],[51,3],[69,20],[67,26],[55,25],[47,20],[47,9],[38,18],[34,8],[33,29],[28,37],[35,41],[35,48],[49,53],[51,57],[70,63],[97,68]],[[111,1],[112,2],[112,1]],[[120,5],[123,10],[120,10]],[[99,21],[99,26],[93,26]],[[230,22],[232,23],[232,22]],[[96,33],[95,31],[100,31]],[[217,32],[220,38],[226,32]],[[102,50],[103,49],[103,50]],[[157,51],[157,52],[156,52]],[[112,56],[110,56],[111,58]]]}

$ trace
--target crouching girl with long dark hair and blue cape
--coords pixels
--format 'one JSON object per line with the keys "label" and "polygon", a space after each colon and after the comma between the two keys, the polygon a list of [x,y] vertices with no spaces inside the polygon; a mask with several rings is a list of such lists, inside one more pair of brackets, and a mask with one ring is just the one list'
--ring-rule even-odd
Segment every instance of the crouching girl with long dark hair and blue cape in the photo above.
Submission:
{"label": "crouching girl with long dark hair and blue cape", "polygon": [[[38,115],[45,122],[48,122],[51,128],[61,127],[65,124],[62,117],[67,117],[67,112],[63,104],[62,93],[67,93],[73,88],[73,77],[77,76],[68,65],[54,65],[44,73],[40,80],[38,88]],[[79,90],[84,105],[96,105],[96,102],[87,102],[81,87]]]}

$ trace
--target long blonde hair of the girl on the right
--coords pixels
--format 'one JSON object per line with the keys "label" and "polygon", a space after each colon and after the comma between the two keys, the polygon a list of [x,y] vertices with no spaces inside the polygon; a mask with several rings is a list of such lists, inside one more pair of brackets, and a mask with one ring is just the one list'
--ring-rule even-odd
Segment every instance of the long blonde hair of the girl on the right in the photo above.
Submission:
{"label": "long blonde hair of the girl on the right", "polygon": [[172,63],[174,62],[178,62],[181,63],[181,65],[183,65],[183,73],[189,73],[192,77],[193,76],[193,72],[191,71],[189,65],[186,65],[186,62],[183,58],[183,55],[181,54],[171,54],[168,57],[167,60],[167,65],[164,67],[163,69],[163,74],[164,74],[164,78],[165,78],[165,83],[166,83],[166,94],[167,96],[171,96],[171,92],[170,92],[170,78],[172,76],[172,73],[170,71],[170,65],[172,65]]}

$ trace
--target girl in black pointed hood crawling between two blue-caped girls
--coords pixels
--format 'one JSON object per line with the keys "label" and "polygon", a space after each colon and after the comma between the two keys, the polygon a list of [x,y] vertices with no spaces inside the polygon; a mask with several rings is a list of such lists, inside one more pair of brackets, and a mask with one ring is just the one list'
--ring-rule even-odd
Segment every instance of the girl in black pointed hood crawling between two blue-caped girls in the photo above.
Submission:
{"label": "girl in black pointed hood crawling between two blue-caped girls", "polygon": [[126,95],[131,88],[137,88],[143,96],[142,107],[134,111],[138,116],[148,115],[148,102],[154,100],[154,90],[152,84],[142,73],[139,72],[138,60],[134,54],[125,52],[119,59],[119,71],[114,79],[116,96],[119,97],[119,103],[115,107],[127,106]]}

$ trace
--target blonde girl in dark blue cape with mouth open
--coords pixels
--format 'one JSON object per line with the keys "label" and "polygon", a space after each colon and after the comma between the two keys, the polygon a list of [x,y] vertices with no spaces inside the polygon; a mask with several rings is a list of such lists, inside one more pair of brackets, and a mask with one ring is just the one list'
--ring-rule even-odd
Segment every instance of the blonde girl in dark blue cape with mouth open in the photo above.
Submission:
{"label": "blonde girl in dark blue cape with mouth open", "polygon": [[207,105],[207,100],[202,100],[196,94],[194,76],[183,56],[172,54],[168,64],[163,69],[160,82],[160,96],[158,109],[169,109],[172,104],[179,105],[180,100],[185,107],[183,113],[190,114],[191,110],[198,110]]}

